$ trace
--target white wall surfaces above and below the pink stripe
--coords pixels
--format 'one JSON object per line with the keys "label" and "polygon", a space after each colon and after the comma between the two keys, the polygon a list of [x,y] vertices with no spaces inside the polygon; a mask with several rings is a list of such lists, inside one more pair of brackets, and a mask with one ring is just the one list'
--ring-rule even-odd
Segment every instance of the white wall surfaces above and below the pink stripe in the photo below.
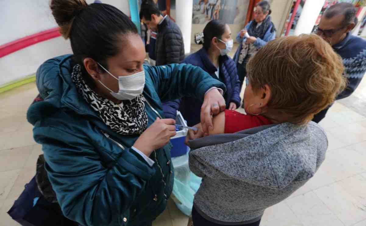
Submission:
{"label": "white wall surfaces above and below the pink stripe", "polygon": [[[87,0],[93,3],[94,0]],[[130,15],[128,0],[102,0]],[[0,45],[57,26],[49,0],[0,0]],[[69,40],[62,37],[31,45],[0,58],[0,86],[36,72],[49,58],[71,54]]]}

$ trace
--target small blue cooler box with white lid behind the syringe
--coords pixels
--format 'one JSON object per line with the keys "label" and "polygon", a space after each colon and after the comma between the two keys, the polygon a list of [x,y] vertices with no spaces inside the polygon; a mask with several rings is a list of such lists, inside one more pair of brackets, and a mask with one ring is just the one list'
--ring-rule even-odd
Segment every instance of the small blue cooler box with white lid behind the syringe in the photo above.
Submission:
{"label": "small blue cooler box with white lid behind the syringe", "polygon": [[[175,119],[176,124],[187,126],[186,121],[183,119],[182,114],[177,111],[177,117]],[[188,146],[184,144],[188,129],[177,127],[177,134],[170,139],[173,147],[170,152],[172,157],[178,157],[188,152]]]}

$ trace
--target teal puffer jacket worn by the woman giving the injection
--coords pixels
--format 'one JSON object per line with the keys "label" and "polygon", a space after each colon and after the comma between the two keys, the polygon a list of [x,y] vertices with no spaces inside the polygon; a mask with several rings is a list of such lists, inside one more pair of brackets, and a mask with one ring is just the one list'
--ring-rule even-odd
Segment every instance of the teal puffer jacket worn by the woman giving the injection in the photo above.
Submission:
{"label": "teal puffer jacket worn by the woman giving the injection", "polygon": [[[63,214],[85,226],[154,220],[173,188],[171,144],[150,155],[155,161],[150,167],[130,148],[138,136],[113,132],[79,95],[70,76],[71,57],[56,57],[40,66],[37,87],[44,101],[27,112]],[[202,100],[211,87],[225,90],[224,84],[192,65],[144,69],[148,126],[156,117],[163,118],[162,101],[183,96]]]}

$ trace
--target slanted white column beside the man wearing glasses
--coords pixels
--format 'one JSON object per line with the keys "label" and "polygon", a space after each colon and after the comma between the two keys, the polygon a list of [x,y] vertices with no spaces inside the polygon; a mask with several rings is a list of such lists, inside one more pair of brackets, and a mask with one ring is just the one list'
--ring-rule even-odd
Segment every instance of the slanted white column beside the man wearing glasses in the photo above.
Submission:
{"label": "slanted white column beside the man wearing glasses", "polygon": [[310,34],[324,3],[325,0],[306,0],[299,21],[296,24],[295,35]]}

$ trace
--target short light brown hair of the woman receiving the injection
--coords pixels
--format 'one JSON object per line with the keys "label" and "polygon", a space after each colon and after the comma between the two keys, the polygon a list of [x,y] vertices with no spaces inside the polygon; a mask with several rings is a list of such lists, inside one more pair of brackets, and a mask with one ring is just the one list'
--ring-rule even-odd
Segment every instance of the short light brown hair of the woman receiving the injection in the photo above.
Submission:
{"label": "short light brown hair of the woman receiving the injection", "polygon": [[261,48],[246,65],[253,91],[268,85],[268,111],[306,124],[346,87],[342,59],[315,34],[281,37]]}

